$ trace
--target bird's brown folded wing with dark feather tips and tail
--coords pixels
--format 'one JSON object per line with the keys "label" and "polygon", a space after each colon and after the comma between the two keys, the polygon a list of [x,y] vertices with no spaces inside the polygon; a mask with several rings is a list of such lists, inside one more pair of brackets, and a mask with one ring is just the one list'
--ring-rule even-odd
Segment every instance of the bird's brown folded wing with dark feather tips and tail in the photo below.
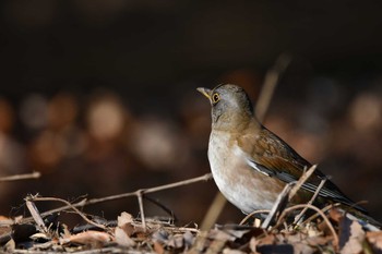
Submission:
{"label": "bird's brown folded wing with dark feather tips and tail", "polygon": [[[248,164],[252,168],[283,182],[297,181],[303,170],[311,167],[311,164],[297,154],[287,143],[263,126],[261,126],[259,134],[246,134],[240,136],[238,142],[239,147],[248,155]],[[319,170],[314,171],[314,174],[308,179],[302,189],[314,193],[323,179],[326,179],[326,182],[320,190],[320,196],[354,206],[366,213],[362,207],[355,205]]]}

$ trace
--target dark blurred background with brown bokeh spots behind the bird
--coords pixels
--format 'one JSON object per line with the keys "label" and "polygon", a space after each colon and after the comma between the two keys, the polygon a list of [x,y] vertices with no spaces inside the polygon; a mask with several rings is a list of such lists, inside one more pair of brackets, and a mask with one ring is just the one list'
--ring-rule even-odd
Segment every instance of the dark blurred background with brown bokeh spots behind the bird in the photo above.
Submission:
{"label": "dark blurred background with brown bokeh spots behind the bird", "polygon": [[[229,82],[255,100],[288,53],[264,124],[381,220],[381,5],[1,1],[0,177],[43,176],[0,183],[0,215],[28,215],[28,193],[75,202],[210,172],[210,105],[195,88]],[[200,223],[216,191],[208,181],[150,196]],[[84,210],[139,209],[127,198]],[[219,222],[242,217],[227,205]]]}

